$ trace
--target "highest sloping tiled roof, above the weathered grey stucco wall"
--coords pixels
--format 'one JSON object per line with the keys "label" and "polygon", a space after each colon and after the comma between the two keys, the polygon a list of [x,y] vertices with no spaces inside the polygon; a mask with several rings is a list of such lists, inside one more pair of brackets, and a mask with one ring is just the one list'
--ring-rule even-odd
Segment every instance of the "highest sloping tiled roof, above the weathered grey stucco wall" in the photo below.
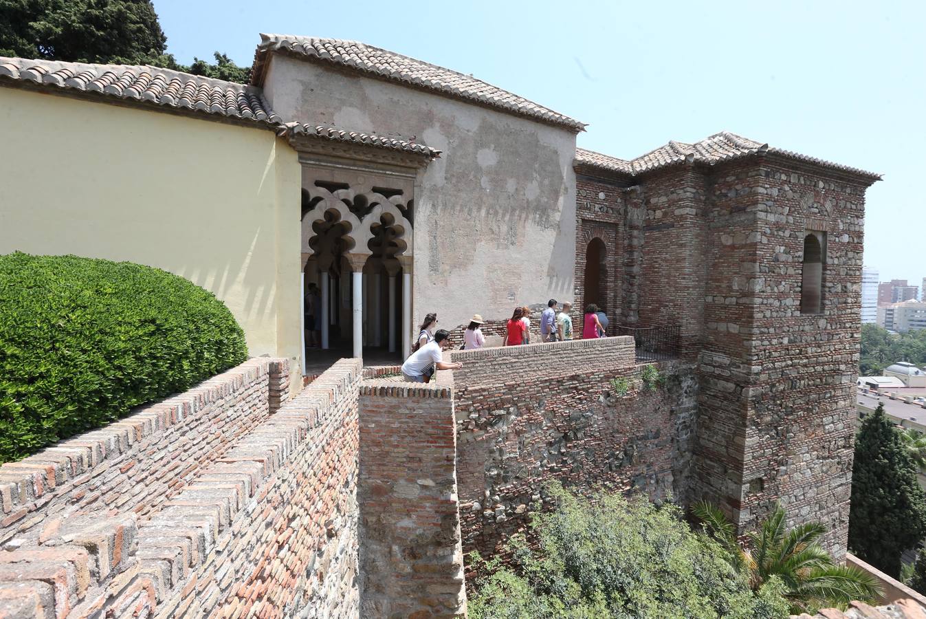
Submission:
{"label": "highest sloping tiled roof, above the weathered grey stucco wall", "polygon": [[585,128],[585,125],[578,120],[570,119],[552,109],[528,101],[522,96],[513,95],[492,84],[477,80],[471,75],[437,67],[372,45],[356,41],[289,34],[261,33],[260,38],[261,42],[257,45],[252,71],[252,81],[256,85],[263,80],[268,53],[284,51],[322,62],[330,62],[384,80],[404,83],[457,99],[495,107],[533,120],[561,125],[575,132],[583,131]]}

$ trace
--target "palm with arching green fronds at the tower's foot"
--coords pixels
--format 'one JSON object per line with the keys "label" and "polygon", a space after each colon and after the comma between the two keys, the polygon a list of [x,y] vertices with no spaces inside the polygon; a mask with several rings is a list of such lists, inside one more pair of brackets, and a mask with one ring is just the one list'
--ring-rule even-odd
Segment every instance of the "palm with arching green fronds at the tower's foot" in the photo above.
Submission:
{"label": "palm with arching green fronds at the tower's foot", "polygon": [[792,613],[815,613],[821,606],[845,606],[852,600],[875,602],[882,591],[871,576],[855,567],[837,565],[820,548],[826,528],[820,523],[788,529],[785,512],[776,505],[757,531],[746,533],[741,546],[736,529],[715,505],[699,502],[694,515],[723,548],[732,570],[744,575],[754,591],[772,578],[781,580]]}

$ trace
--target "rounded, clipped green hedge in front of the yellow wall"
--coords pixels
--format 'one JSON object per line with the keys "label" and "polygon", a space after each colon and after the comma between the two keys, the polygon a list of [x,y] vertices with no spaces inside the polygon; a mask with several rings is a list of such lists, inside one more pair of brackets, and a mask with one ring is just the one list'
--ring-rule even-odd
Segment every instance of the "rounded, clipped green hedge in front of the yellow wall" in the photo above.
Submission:
{"label": "rounded, clipped green hedge in front of the yellow wall", "polygon": [[0,462],[247,359],[212,293],[131,262],[0,256]]}

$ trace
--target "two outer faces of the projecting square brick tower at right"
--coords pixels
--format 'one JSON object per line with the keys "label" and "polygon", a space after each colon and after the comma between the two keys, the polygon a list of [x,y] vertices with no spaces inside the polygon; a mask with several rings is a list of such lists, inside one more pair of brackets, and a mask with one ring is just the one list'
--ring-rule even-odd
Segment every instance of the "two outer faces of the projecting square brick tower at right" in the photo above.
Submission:
{"label": "two outer faces of the projecting square brick tower at right", "polygon": [[[865,183],[794,163],[710,183],[698,478],[742,528],[780,500],[845,553]],[[800,312],[803,241],[827,233],[823,310]]]}

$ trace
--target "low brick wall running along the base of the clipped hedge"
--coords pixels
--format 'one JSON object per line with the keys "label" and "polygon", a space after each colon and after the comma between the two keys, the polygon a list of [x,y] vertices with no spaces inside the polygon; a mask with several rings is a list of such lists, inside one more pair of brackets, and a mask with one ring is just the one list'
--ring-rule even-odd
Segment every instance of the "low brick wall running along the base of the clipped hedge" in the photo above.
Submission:
{"label": "low brick wall running along the base of the clipped hedge", "polygon": [[83,513],[156,512],[288,394],[289,365],[257,358],[119,422],[0,466],[0,544]]}

